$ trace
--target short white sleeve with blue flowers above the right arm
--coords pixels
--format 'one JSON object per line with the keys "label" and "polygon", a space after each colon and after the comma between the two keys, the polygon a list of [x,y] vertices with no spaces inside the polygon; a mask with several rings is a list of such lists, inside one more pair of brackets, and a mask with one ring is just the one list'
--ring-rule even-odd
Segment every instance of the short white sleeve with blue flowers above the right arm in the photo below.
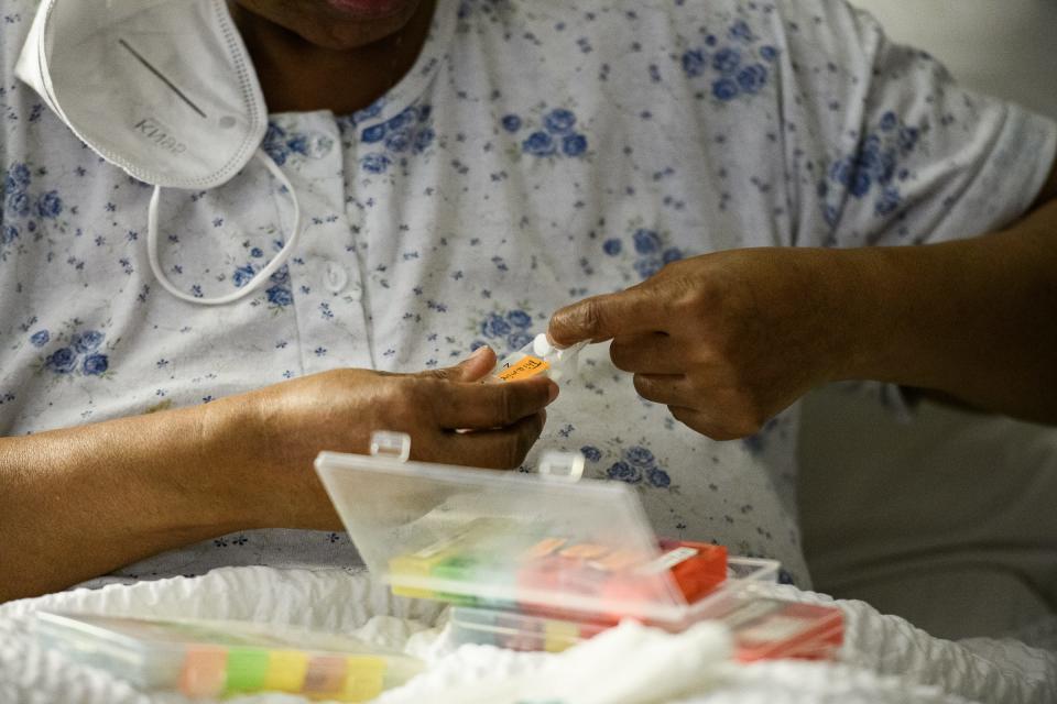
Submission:
{"label": "short white sleeve with blue flowers above the right arm", "polygon": [[842,0],[781,3],[794,243],[920,244],[1002,228],[1035,200],[1057,125],[954,82]]}

